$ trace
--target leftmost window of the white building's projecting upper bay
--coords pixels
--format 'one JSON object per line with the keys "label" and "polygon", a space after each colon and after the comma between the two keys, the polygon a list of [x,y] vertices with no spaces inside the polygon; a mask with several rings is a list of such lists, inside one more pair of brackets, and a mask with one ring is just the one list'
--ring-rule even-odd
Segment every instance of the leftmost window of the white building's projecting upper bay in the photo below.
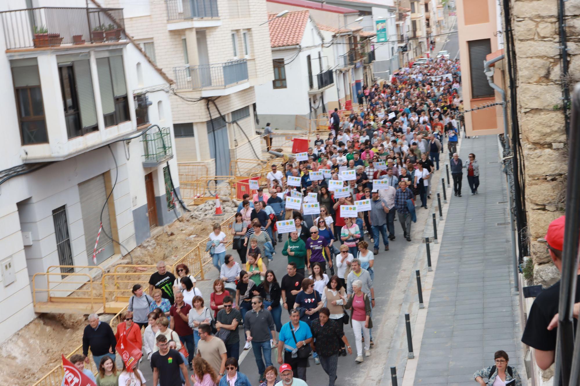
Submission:
{"label": "leftmost window of the white building's projecting upper bay", "polygon": [[[30,65],[21,65],[30,64]],[[12,60],[12,79],[23,145],[46,143],[46,123],[36,59]]]}

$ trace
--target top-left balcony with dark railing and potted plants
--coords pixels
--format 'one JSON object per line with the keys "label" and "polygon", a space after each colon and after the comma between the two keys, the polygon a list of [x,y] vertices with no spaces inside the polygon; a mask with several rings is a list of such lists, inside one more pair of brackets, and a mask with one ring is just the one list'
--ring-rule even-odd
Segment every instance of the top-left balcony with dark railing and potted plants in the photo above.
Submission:
{"label": "top-left balcony with dark railing and potted plants", "polygon": [[43,7],[0,12],[6,50],[124,41],[121,8]]}

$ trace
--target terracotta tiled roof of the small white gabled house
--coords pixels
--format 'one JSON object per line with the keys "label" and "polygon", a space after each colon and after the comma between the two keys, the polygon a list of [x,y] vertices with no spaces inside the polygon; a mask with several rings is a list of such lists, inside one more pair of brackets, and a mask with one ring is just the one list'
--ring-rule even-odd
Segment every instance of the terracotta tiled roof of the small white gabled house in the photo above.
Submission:
{"label": "terracotta tiled roof of the small white gabled house", "polygon": [[276,13],[268,15],[270,21],[270,45],[272,47],[296,46],[302,41],[306,23],[310,13],[308,10],[299,10],[288,12],[284,17],[278,17]]}

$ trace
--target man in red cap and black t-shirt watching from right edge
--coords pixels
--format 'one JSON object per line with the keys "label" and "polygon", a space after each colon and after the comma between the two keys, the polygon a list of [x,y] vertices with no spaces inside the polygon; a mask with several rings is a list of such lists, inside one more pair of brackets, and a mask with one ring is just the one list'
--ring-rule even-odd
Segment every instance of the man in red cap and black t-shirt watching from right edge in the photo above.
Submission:
{"label": "man in red cap and black t-shirt watching from right edge", "polygon": [[[562,250],[564,249],[564,225],[566,217],[561,216],[548,225],[546,242],[548,252],[554,265],[562,272]],[[577,267],[577,275],[580,275],[580,267]],[[580,279],[580,277],[578,278]],[[580,280],[577,281],[574,303],[574,317],[578,318],[580,308]],[[536,364],[542,370],[548,369],[554,363],[554,351],[556,350],[556,329],[558,304],[560,300],[560,281],[545,289],[536,297],[528,321],[525,324],[524,334],[521,341],[534,348]],[[575,322],[575,321],[574,321]],[[574,323],[575,324],[575,323]],[[574,326],[574,330],[576,327]]]}

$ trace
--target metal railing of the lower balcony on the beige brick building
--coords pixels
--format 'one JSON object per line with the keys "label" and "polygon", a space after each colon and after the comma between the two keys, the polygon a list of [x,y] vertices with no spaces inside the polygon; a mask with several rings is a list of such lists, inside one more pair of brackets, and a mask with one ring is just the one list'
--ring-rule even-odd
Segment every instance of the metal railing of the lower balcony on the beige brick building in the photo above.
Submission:
{"label": "metal railing of the lower balcony on the beige brick building", "polygon": [[248,62],[245,59],[174,67],[173,71],[178,89],[225,88],[248,80]]}

